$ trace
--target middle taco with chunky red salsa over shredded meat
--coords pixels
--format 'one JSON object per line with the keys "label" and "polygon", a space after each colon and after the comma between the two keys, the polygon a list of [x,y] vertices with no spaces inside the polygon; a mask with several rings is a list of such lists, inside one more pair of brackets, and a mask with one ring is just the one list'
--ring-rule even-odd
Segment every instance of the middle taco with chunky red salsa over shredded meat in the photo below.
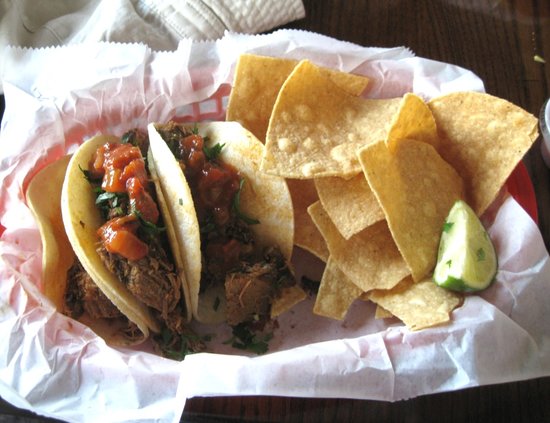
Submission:
{"label": "middle taco with chunky red salsa over shredded meat", "polygon": [[88,324],[107,322],[113,344],[137,344],[153,332],[164,352],[187,342],[191,308],[159,178],[139,130],[96,136],[74,153],[61,191],[76,256],[62,311]]}

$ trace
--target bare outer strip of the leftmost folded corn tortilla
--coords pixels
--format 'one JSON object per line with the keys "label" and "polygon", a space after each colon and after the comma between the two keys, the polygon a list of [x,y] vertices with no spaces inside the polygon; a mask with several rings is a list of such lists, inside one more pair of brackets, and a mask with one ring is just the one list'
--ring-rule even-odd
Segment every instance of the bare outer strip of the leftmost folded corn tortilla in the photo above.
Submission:
{"label": "bare outer strip of the leftmost folded corn tortilla", "polygon": [[61,219],[61,187],[70,158],[64,156],[40,170],[26,192],[42,240],[44,294],[60,312],[65,304],[67,271],[75,257]]}

